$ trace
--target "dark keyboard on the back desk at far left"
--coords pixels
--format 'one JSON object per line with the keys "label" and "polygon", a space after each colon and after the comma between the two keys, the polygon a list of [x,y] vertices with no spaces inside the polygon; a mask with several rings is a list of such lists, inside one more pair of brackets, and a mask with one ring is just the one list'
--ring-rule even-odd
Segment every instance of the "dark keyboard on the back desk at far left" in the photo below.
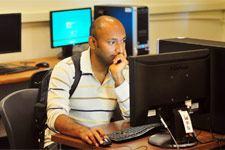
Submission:
{"label": "dark keyboard on the back desk at far left", "polygon": [[0,75],[24,72],[24,71],[34,70],[38,68],[39,67],[37,66],[15,66],[15,67],[0,66]]}

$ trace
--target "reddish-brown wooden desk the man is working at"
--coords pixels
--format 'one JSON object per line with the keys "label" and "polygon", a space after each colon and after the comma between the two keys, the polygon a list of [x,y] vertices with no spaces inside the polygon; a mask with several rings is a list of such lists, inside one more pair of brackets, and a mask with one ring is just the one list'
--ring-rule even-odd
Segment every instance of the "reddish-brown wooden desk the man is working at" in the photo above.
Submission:
{"label": "reddish-brown wooden desk the man is working at", "polygon": [[[129,127],[129,122],[124,121],[124,120],[116,121],[116,122],[112,122],[112,123],[109,123],[106,125],[102,125],[100,127],[106,133],[110,133],[110,132],[114,132],[114,131]],[[198,133],[198,131],[197,131],[197,133]],[[218,135],[218,134],[215,134],[214,136],[218,137],[218,138],[221,137],[221,135]],[[208,141],[211,139],[211,134],[206,131],[201,131],[200,135],[198,136],[198,139],[202,142]],[[84,143],[79,138],[74,138],[74,137],[70,137],[70,136],[66,136],[66,135],[62,135],[62,134],[53,135],[52,140],[57,143],[61,143],[64,145],[68,145],[68,146],[72,146],[72,147],[76,147],[76,148],[80,148],[80,149],[96,149],[96,147]],[[225,142],[221,142],[221,145],[225,145]],[[132,149],[136,149],[140,146],[146,146],[146,147],[148,147],[148,149],[162,149],[162,148],[158,148],[158,147],[148,144],[148,136],[137,139],[137,140],[120,143],[120,144],[113,143],[112,146],[115,146],[115,147],[116,146],[124,146],[124,148],[121,147],[121,148],[116,148],[116,149],[129,149],[125,146],[129,146]],[[213,149],[215,147],[219,147],[219,143],[217,141],[207,143],[207,144],[198,144],[197,146],[191,147],[189,149]],[[113,148],[100,148],[100,149],[113,149]]]}

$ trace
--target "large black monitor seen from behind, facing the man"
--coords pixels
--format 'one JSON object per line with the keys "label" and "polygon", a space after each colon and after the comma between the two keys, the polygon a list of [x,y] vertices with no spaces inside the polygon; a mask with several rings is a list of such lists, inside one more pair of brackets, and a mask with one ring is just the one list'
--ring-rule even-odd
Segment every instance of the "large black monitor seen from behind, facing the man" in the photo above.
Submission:
{"label": "large black monitor seen from behind, facing the man", "polygon": [[[177,114],[179,109],[188,111],[191,116],[208,113],[209,50],[132,56],[129,66],[131,126],[160,123],[161,115],[168,122],[179,147],[194,146],[196,141],[193,139],[186,143],[190,138],[185,138],[187,134]],[[188,100],[192,102],[190,109],[185,104]],[[162,136],[157,139],[162,143],[153,142],[156,146],[174,147],[170,136],[166,143]]]}

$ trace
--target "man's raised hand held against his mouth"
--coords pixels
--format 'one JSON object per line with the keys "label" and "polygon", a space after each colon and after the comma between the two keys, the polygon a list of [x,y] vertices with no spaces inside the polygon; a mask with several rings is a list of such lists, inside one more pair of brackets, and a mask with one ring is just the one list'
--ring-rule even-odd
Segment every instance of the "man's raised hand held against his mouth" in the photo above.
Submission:
{"label": "man's raised hand held against his mouth", "polygon": [[113,63],[109,66],[109,70],[115,81],[115,87],[118,87],[124,82],[123,69],[128,65],[126,50],[123,54],[118,54],[113,60]]}

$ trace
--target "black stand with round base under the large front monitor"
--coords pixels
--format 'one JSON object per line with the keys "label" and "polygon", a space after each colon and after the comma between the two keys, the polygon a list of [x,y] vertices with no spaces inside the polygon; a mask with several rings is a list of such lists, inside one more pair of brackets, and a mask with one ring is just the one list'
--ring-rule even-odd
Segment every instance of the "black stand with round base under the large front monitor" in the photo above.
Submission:
{"label": "black stand with round base under the large front monitor", "polygon": [[173,138],[169,132],[160,132],[152,135],[148,139],[148,143],[157,147],[162,148],[188,148],[193,147],[198,144],[195,137],[190,136],[185,132],[184,124],[178,110],[187,110],[187,108],[175,108],[172,110],[169,118],[171,121],[170,130],[177,145],[175,144]]}

